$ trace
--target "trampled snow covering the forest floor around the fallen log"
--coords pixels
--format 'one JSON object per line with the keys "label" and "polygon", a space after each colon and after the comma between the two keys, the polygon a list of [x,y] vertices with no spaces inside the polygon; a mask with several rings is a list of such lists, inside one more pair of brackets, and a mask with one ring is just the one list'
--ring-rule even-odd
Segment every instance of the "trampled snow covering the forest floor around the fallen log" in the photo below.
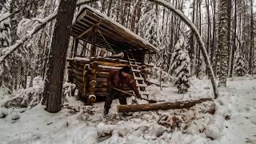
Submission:
{"label": "trampled snow covering the forest floor around the fallen log", "polygon": [[[187,94],[177,94],[174,86],[149,90],[150,98],[168,102],[213,96],[210,81],[197,78],[192,78]],[[104,102],[83,106],[74,97],[58,114],[47,113],[41,105],[30,110],[1,107],[0,116],[7,116],[0,118],[0,143],[256,143],[256,77],[230,78],[220,92],[214,102],[190,109],[136,112],[128,117],[116,114],[117,100],[107,118],[102,117]],[[0,92],[0,105],[6,97]],[[216,111],[209,114],[213,106]],[[158,122],[162,115],[167,120]],[[111,135],[98,138],[104,131]]]}

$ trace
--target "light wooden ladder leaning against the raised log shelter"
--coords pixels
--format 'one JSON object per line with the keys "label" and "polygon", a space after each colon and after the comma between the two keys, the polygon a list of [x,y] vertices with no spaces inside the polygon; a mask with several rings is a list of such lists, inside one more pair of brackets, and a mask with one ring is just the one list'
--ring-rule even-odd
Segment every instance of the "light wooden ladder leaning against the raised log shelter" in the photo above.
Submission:
{"label": "light wooden ladder leaning against the raised log shelter", "polygon": [[141,70],[138,69],[138,62],[134,59],[133,54],[126,53],[128,62],[132,71],[132,74],[134,76],[134,80],[136,82],[136,86],[138,87],[138,93],[141,94],[141,96],[146,96],[148,98],[149,92],[146,91],[146,83],[144,78],[142,77]]}

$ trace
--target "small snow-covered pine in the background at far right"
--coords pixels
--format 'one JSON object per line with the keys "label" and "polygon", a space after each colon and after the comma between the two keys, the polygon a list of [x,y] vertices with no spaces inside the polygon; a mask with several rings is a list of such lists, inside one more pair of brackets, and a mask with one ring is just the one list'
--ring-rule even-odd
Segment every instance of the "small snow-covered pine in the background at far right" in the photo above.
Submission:
{"label": "small snow-covered pine in the background at far right", "polygon": [[235,54],[234,74],[238,77],[246,74],[245,57],[240,53]]}

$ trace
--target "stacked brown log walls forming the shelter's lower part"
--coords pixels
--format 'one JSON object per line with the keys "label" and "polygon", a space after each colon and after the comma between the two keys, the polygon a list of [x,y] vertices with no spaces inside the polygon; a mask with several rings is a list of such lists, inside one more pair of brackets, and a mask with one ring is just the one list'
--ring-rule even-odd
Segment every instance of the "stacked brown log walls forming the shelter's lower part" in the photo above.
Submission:
{"label": "stacked brown log walls forming the shelter's lower part", "polygon": [[[104,54],[102,52],[102,54]],[[76,85],[78,94],[87,103],[104,100],[107,94],[106,78],[111,70],[119,70],[123,66],[128,66],[129,62],[118,58],[91,57],[68,58],[69,82]],[[141,63],[139,68],[146,66]],[[130,90],[128,86],[125,90]]]}

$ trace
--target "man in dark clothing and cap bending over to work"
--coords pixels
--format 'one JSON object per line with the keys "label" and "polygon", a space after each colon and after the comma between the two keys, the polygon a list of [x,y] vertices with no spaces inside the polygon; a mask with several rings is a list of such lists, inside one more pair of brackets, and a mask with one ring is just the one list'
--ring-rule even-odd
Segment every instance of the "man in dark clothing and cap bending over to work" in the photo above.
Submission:
{"label": "man in dark clothing and cap bending over to work", "polygon": [[106,96],[106,101],[104,105],[104,115],[109,113],[112,101],[115,96],[118,96],[121,105],[126,105],[126,94],[122,94],[113,88],[116,87],[120,90],[124,89],[124,86],[129,86],[137,98],[141,98],[138,93],[138,88],[136,86],[135,80],[132,77],[130,66],[124,66],[121,70],[112,70],[107,77],[108,95]]}

